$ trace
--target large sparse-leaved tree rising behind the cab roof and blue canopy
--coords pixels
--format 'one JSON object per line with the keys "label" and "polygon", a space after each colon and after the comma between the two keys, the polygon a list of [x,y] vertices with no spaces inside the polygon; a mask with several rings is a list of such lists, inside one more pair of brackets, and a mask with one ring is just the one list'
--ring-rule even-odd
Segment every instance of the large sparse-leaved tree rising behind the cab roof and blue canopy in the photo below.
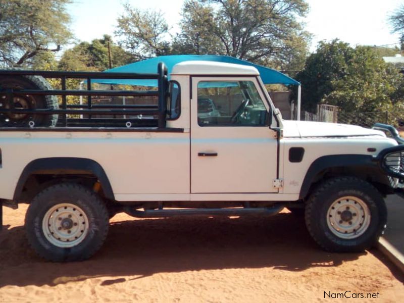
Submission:
{"label": "large sparse-leaved tree rising behind the cab roof and blue canopy", "polygon": [[177,40],[190,46],[190,53],[283,69],[295,55],[307,54],[310,35],[297,21],[307,11],[303,0],[187,0]]}

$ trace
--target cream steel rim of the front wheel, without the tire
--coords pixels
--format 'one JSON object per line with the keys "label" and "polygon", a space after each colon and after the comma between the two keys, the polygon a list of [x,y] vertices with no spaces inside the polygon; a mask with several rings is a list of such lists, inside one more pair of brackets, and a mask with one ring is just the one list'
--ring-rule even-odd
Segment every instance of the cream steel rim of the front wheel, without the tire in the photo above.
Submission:
{"label": "cream steel rim of the front wheel, without the tire", "polygon": [[370,210],[366,203],[354,196],[336,199],[327,211],[327,225],[330,231],[342,239],[361,236],[370,225]]}

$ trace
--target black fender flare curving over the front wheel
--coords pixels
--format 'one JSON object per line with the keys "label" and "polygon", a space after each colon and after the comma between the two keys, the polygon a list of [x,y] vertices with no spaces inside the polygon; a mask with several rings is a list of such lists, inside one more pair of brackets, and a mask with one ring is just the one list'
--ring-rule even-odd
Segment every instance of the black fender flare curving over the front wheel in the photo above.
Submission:
{"label": "black fender flare curving over the front wheel", "polygon": [[361,168],[372,170],[379,178],[384,180],[384,184],[390,184],[386,173],[380,168],[378,161],[371,155],[330,155],[316,159],[309,167],[305,179],[301,184],[299,199],[304,199],[315,182],[316,176],[330,168]]}

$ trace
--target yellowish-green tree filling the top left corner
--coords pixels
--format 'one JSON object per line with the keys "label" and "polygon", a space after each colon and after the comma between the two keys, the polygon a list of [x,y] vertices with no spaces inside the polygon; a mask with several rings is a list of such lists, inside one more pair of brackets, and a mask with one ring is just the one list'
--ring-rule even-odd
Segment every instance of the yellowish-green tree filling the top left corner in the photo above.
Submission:
{"label": "yellowish-green tree filling the top left corner", "polygon": [[0,0],[0,65],[29,66],[35,56],[58,52],[72,33],[71,0]]}

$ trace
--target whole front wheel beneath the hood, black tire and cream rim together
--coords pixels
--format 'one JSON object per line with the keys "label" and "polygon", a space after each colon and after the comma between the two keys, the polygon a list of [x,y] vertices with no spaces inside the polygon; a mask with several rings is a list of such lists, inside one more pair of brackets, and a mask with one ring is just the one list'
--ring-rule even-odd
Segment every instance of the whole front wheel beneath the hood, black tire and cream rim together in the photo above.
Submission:
{"label": "whole front wheel beneath the hood, black tire and cream rim together", "polygon": [[362,252],[377,243],[387,221],[381,192],[357,177],[320,183],[306,201],[305,221],[313,239],[332,252]]}

